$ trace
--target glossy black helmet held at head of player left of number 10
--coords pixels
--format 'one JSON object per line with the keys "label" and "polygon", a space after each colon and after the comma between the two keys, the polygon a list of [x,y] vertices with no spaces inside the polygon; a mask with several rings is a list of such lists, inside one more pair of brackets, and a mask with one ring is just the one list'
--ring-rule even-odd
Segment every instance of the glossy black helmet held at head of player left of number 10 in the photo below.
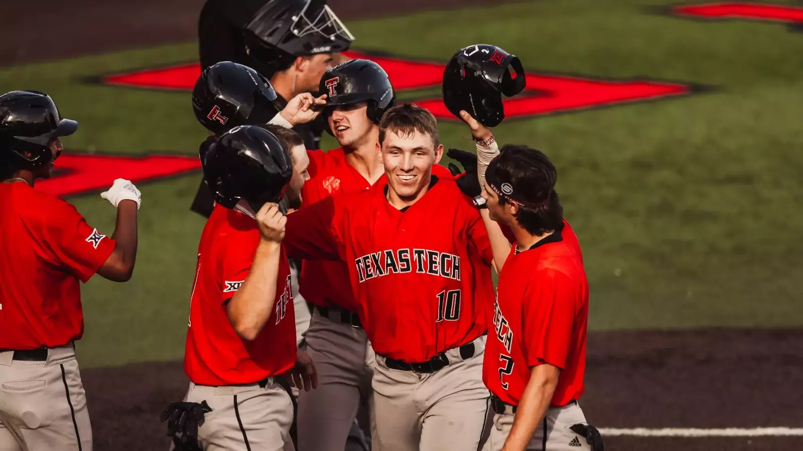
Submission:
{"label": "glossy black helmet held at head of player left of number 10", "polygon": [[245,200],[254,211],[278,202],[290,183],[293,166],[273,133],[242,125],[223,133],[203,153],[203,177],[214,200],[227,209]]}

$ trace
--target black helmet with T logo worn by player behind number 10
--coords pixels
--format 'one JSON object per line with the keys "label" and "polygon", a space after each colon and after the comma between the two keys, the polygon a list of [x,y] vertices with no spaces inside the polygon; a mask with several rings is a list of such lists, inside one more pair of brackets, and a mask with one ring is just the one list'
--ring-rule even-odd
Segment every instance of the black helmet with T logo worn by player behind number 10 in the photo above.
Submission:
{"label": "black helmet with T logo worn by player behind number 10", "polygon": [[[396,105],[396,91],[385,69],[368,59],[349,59],[332,67],[320,77],[318,94],[326,94],[324,117],[332,114],[332,105],[368,103],[366,114],[375,124]],[[332,129],[326,127],[332,135]]]}

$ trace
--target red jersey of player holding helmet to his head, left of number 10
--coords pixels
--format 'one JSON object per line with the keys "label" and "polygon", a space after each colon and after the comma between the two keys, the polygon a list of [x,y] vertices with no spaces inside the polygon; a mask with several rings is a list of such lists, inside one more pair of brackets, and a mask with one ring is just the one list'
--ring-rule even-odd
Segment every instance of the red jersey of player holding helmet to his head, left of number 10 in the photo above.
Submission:
{"label": "red jersey of player holding helmet to his head, left of number 10", "polygon": [[251,384],[296,364],[296,317],[284,249],[275,307],[256,339],[241,339],[226,313],[226,303],[251,270],[257,246],[259,229],[253,218],[214,206],[201,234],[190,296],[184,370],[195,384]]}

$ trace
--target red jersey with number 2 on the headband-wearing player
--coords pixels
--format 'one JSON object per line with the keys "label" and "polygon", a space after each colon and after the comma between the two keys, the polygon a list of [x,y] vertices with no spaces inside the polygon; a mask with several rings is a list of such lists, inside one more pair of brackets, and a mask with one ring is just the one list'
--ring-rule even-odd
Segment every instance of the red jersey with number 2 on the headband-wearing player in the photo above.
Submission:
{"label": "red jersey with number 2 on the headband-wearing player", "polygon": [[523,252],[513,247],[499,274],[494,326],[483,360],[493,394],[518,405],[531,368],[560,368],[552,407],[583,394],[589,283],[569,223]]}

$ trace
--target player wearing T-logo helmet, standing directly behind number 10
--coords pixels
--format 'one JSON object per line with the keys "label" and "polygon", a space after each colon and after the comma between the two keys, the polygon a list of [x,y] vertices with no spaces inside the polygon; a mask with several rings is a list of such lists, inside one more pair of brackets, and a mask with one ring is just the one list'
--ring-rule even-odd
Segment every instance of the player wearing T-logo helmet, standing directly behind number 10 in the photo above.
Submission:
{"label": "player wearing T-logo helmet, standing directly behind number 10", "polygon": [[[308,151],[310,180],[304,184],[304,205],[386,183],[377,155],[379,122],[395,105],[396,95],[385,70],[373,61],[352,59],[326,71],[319,92],[328,95],[322,116],[341,147]],[[440,165],[433,171],[439,177],[451,175]],[[346,263],[304,262],[300,292],[315,306],[304,343],[316,362],[320,386],[300,393],[298,447],[341,451],[349,445],[347,436],[355,435],[357,411],[371,404],[373,350],[356,313]]]}

